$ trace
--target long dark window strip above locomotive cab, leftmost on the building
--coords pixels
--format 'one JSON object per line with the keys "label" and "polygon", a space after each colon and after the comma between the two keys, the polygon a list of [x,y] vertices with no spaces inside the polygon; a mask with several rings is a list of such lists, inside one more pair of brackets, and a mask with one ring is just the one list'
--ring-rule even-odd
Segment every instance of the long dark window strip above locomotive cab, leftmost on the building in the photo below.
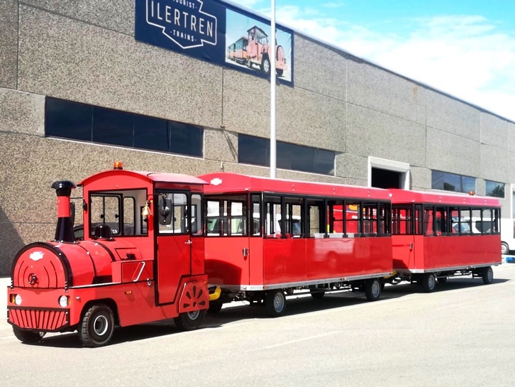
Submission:
{"label": "long dark window strip above locomotive cab, leftmost on the building", "polygon": [[48,97],[45,136],[202,157],[204,129]]}

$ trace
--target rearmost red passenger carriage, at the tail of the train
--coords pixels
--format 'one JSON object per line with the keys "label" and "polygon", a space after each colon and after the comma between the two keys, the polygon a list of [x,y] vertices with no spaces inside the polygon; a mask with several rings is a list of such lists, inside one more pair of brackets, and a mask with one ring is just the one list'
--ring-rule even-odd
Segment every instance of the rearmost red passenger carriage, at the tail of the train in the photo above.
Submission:
{"label": "rearmost red passenger carriage, at the tail of the train", "polygon": [[501,263],[499,200],[435,192],[392,192],[393,266],[431,292],[436,280],[472,275],[493,280]]}

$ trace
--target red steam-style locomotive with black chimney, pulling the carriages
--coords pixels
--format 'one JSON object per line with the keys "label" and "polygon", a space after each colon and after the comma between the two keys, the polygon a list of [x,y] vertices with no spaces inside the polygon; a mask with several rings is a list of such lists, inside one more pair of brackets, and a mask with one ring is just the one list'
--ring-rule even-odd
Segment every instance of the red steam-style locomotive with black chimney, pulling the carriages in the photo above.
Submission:
{"label": "red steam-style locomotive with black chimney, pulling the carriages", "polygon": [[115,169],[79,182],[84,240],[75,241],[70,181],[57,192],[55,239],[28,244],[13,261],[8,321],[22,342],[77,330],[86,347],[115,326],[175,319],[196,329],[209,307],[199,178]]}

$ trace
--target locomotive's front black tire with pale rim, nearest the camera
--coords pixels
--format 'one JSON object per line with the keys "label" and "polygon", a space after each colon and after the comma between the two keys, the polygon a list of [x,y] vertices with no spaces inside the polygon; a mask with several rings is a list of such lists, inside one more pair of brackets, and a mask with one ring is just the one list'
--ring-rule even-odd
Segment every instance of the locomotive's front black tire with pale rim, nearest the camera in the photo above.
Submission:
{"label": "locomotive's front black tire with pale rim, nearest the camera", "polygon": [[84,347],[103,347],[109,344],[113,332],[113,311],[104,304],[89,307],[79,325],[79,339]]}

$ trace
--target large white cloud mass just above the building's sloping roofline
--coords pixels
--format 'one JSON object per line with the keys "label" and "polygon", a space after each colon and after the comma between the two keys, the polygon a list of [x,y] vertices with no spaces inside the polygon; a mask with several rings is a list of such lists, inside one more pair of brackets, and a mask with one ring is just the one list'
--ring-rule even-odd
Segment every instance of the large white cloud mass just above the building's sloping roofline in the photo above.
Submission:
{"label": "large white cloud mass just above the building's sloping roofline", "polygon": [[298,6],[277,21],[515,121],[515,36],[482,16],[407,20],[404,35],[324,18]]}

